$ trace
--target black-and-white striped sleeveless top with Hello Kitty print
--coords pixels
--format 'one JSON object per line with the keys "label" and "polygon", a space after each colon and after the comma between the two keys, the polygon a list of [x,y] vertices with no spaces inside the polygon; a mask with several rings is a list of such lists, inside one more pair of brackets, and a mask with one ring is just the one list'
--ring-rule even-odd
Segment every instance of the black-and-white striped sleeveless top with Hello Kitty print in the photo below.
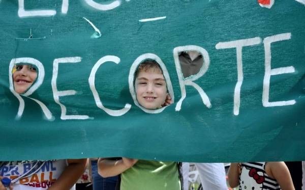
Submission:
{"label": "black-and-white striped sleeveless top with Hello Kitty print", "polygon": [[239,190],[281,189],[279,183],[270,178],[265,171],[265,162],[241,163],[239,175]]}

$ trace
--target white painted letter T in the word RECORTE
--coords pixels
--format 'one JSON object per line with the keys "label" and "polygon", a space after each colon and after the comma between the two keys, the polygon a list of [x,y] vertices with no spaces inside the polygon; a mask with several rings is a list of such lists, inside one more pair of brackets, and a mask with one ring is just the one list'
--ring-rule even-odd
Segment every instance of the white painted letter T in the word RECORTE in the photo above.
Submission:
{"label": "white painted letter T in the word RECORTE", "polygon": [[243,46],[252,46],[261,43],[261,38],[249,38],[242,40],[235,40],[229,42],[219,42],[216,44],[216,49],[225,49],[225,48],[236,48],[236,57],[237,57],[237,83],[234,89],[234,115],[239,115],[239,106],[240,106],[240,88],[243,82],[243,71],[242,71],[242,47]]}

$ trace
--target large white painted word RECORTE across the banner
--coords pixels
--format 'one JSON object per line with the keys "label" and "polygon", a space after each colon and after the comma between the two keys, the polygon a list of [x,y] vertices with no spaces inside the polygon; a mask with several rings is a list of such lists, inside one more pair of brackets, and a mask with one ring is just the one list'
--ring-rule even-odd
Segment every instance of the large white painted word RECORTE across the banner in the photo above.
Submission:
{"label": "large white painted word RECORTE across the banner", "polygon": [[[246,46],[258,45],[261,43],[264,44],[264,52],[265,52],[265,74],[264,74],[264,80],[263,80],[262,105],[264,107],[271,107],[271,106],[293,105],[296,103],[295,100],[269,102],[270,77],[272,75],[279,75],[279,74],[284,74],[284,73],[295,72],[295,68],[293,66],[271,69],[271,43],[275,43],[275,42],[279,42],[279,41],[283,41],[283,40],[289,40],[290,38],[291,38],[291,33],[284,33],[284,34],[269,36],[269,37],[264,38],[263,40],[260,37],[256,37],[256,38],[249,38],[249,39],[242,39],[242,40],[235,40],[235,41],[228,41],[228,42],[219,42],[216,44],[216,49],[226,49],[226,48],[235,48],[236,49],[237,83],[236,83],[235,89],[234,89],[234,107],[233,107],[234,115],[236,115],[236,116],[239,115],[240,89],[241,89],[241,85],[243,82],[242,48],[246,47]],[[193,75],[192,77],[184,78],[183,74],[181,72],[178,55],[179,55],[179,52],[181,52],[181,51],[191,51],[191,50],[198,51],[201,53],[201,55],[203,56],[203,59],[204,59],[204,64],[202,65],[202,67],[200,68],[200,70],[197,74]],[[181,110],[181,104],[182,104],[183,100],[186,98],[186,86],[194,87],[200,94],[203,104],[206,107],[210,108],[211,103],[210,103],[209,97],[204,92],[204,90],[195,83],[195,80],[202,77],[205,74],[205,72],[208,70],[209,63],[210,63],[208,52],[200,46],[195,46],[195,45],[178,46],[173,49],[173,58],[174,58],[175,68],[176,68],[176,72],[177,72],[177,76],[178,76],[178,80],[179,80],[179,86],[180,86],[180,90],[181,90],[181,98],[177,101],[175,110],[176,111]],[[172,100],[174,100],[174,92],[173,92],[169,73],[166,69],[166,66],[164,65],[162,60],[153,53],[145,53],[145,54],[139,56],[134,61],[134,63],[131,65],[129,78],[128,78],[130,93],[133,97],[135,104],[137,106],[139,106],[144,112],[151,113],[151,114],[161,113],[166,107],[162,107],[158,110],[146,110],[145,108],[141,107],[136,100],[135,90],[134,90],[134,86],[133,86],[134,72],[136,71],[136,68],[138,67],[138,65],[143,60],[146,60],[146,59],[156,60],[157,63],[160,64],[160,66],[163,70],[163,73],[164,73],[166,83],[167,83],[168,92],[169,92],[170,96],[172,97]],[[67,115],[66,106],[59,101],[59,97],[72,96],[72,95],[76,94],[75,90],[65,90],[65,91],[57,90],[56,80],[57,80],[57,75],[58,75],[59,64],[75,64],[75,63],[79,63],[79,62],[81,62],[81,57],[57,58],[57,59],[54,59],[54,61],[53,61],[53,73],[52,73],[51,86],[52,86],[54,101],[60,106],[61,111],[62,111],[61,116],[60,116],[60,119],[62,119],[62,120],[92,119],[87,115]],[[99,97],[99,94],[95,88],[96,72],[99,69],[99,67],[105,62],[113,62],[115,64],[119,64],[120,59],[116,56],[104,56],[100,60],[98,60],[98,62],[93,66],[93,68],[90,72],[90,75],[88,78],[89,87],[94,95],[96,105],[99,108],[101,108],[103,111],[105,111],[110,116],[122,116],[130,110],[131,104],[126,103],[125,107],[121,108],[120,110],[111,110],[109,108],[106,108],[103,105],[103,103]],[[15,92],[13,81],[12,81],[12,72],[11,71],[14,67],[14,64],[18,64],[18,63],[33,64],[39,70],[36,83],[33,86],[31,86],[31,88],[29,88],[26,91],[26,93],[24,93],[22,95]],[[47,108],[47,106],[44,103],[42,103],[38,99],[29,97],[29,95],[31,95],[35,90],[37,90],[40,87],[40,85],[43,83],[44,75],[45,75],[45,72],[44,72],[43,64],[34,58],[14,58],[11,60],[10,67],[9,67],[10,90],[19,100],[19,108],[18,108],[18,113],[17,113],[16,119],[21,118],[23,110],[24,110],[24,100],[22,97],[27,97],[27,98],[30,98],[30,99],[34,100],[35,102],[37,102],[40,105],[47,120],[54,119],[54,117],[52,116],[52,113],[49,111],[49,109]]]}

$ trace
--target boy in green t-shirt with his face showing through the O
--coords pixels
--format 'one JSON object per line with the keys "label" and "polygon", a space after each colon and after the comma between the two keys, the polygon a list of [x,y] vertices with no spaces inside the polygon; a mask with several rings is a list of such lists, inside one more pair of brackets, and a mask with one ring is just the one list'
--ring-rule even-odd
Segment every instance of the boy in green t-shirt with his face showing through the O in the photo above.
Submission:
{"label": "boy in green t-shirt with his face showing through the O", "polygon": [[[160,65],[146,60],[135,73],[134,86],[139,104],[154,110],[162,107],[167,98],[167,86]],[[138,160],[123,157],[118,160],[100,158],[99,173],[103,177],[121,174],[121,190],[180,190],[177,162]]]}

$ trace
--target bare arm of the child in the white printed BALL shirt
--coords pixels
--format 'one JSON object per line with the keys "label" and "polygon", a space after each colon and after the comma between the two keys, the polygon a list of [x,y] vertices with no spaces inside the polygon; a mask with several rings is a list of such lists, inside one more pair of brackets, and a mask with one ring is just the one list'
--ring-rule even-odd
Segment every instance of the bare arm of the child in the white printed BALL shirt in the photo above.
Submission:
{"label": "bare arm of the child in the white printed BALL shirt", "polygon": [[59,176],[55,183],[48,188],[49,190],[67,190],[70,189],[79,177],[85,172],[86,158],[68,159],[68,166]]}

